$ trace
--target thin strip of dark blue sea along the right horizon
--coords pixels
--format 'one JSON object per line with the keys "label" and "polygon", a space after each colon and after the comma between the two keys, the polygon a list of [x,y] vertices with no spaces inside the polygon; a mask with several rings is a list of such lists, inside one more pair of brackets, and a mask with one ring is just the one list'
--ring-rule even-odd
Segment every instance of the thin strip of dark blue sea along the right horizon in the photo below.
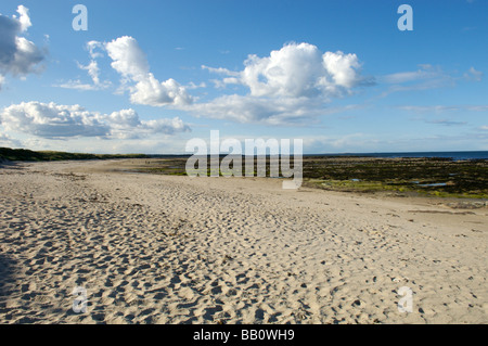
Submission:
{"label": "thin strip of dark blue sea along the right horizon", "polygon": [[460,161],[460,159],[488,159],[488,151],[475,151],[475,152],[411,152],[411,153],[346,153],[346,154],[319,154],[317,156],[447,157],[447,158],[452,158],[453,161]]}

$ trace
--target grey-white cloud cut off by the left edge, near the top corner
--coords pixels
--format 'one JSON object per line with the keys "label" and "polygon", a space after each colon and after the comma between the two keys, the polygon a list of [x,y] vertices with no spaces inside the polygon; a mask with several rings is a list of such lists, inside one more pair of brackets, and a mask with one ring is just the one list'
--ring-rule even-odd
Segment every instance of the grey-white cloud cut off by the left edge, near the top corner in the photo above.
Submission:
{"label": "grey-white cloud cut off by the left edge, near the top corner", "polygon": [[0,79],[35,73],[44,59],[42,50],[21,36],[31,26],[28,9],[20,5],[17,13],[18,17],[0,14]]}

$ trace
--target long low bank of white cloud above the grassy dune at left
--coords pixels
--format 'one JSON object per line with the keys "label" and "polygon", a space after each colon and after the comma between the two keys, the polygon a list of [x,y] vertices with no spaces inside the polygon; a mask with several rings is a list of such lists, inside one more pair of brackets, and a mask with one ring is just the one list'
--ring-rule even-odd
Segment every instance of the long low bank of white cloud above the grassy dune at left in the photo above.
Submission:
{"label": "long low bank of white cloud above the grassy dune at left", "polygon": [[53,102],[23,102],[0,113],[7,131],[23,132],[40,138],[138,138],[145,134],[175,134],[190,131],[180,118],[140,120],[133,110],[110,115],[89,112],[80,105],[59,105]]}

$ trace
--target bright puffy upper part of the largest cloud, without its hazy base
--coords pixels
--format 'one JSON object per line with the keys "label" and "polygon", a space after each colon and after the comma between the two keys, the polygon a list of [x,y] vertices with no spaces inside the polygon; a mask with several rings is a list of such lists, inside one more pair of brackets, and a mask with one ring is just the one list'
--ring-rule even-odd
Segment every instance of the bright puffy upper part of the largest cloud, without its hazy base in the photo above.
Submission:
{"label": "bright puffy upper part of the largest cloud, without its hazy base", "polygon": [[203,66],[227,75],[227,84],[242,84],[253,97],[313,98],[337,97],[364,82],[356,54],[321,53],[310,43],[290,43],[269,56],[252,54],[242,72]]}

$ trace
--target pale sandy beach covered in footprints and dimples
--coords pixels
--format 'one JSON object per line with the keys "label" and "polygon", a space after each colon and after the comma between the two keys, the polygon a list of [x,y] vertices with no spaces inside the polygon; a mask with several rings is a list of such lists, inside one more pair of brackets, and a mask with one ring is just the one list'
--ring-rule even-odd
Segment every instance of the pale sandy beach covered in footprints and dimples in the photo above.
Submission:
{"label": "pale sandy beach covered in footprints and dimples", "polygon": [[0,168],[0,323],[488,322],[487,207],[123,164]]}

